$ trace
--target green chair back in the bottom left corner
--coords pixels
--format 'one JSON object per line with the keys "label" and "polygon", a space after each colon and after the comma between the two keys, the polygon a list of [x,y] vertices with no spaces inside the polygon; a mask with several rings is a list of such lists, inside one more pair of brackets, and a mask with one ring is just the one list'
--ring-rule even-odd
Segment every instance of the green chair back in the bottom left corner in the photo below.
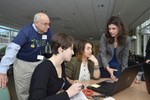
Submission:
{"label": "green chair back in the bottom left corner", "polygon": [[0,100],[11,100],[10,92],[8,87],[2,89],[0,88]]}

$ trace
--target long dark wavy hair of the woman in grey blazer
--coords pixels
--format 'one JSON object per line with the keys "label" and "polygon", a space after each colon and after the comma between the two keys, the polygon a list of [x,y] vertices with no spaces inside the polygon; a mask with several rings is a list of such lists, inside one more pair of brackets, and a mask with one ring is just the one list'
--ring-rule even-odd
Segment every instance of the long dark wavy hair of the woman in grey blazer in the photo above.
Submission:
{"label": "long dark wavy hair of the woman in grey blazer", "polygon": [[112,16],[107,22],[107,29],[105,33],[107,41],[110,44],[114,43],[114,38],[110,35],[109,29],[108,29],[108,26],[110,24],[114,24],[119,28],[117,42],[118,42],[118,45],[123,45],[128,35],[127,27],[125,26],[125,24],[123,23],[123,21],[121,20],[119,16]]}

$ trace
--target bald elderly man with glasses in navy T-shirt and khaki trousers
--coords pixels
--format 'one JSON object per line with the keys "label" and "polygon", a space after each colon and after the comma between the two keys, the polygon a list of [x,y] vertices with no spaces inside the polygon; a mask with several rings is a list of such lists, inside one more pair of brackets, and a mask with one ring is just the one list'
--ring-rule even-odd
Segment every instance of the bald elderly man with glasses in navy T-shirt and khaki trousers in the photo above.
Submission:
{"label": "bald elderly man with glasses in navy T-shirt and khaki trousers", "polygon": [[0,64],[0,87],[5,88],[9,65],[14,64],[14,80],[18,100],[27,100],[31,75],[43,60],[41,54],[50,43],[50,19],[46,13],[34,15],[34,22],[23,27],[14,40],[7,46]]}

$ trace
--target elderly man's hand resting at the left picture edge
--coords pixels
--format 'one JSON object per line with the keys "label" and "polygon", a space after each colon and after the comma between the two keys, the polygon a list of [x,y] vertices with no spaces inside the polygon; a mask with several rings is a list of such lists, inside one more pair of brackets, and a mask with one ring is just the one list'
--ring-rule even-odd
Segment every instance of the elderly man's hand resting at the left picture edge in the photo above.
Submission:
{"label": "elderly man's hand resting at the left picture edge", "polygon": [[0,87],[3,89],[8,82],[7,74],[0,73]]}

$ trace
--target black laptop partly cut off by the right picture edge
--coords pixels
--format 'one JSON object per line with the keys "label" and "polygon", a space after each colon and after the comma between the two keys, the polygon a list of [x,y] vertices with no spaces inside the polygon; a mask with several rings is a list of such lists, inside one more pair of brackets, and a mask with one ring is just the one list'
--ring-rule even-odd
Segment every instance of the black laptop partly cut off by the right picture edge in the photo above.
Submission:
{"label": "black laptop partly cut off by the right picture edge", "polygon": [[143,70],[144,70],[146,88],[148,93],[150,94],[150,64],[144,63]]}

